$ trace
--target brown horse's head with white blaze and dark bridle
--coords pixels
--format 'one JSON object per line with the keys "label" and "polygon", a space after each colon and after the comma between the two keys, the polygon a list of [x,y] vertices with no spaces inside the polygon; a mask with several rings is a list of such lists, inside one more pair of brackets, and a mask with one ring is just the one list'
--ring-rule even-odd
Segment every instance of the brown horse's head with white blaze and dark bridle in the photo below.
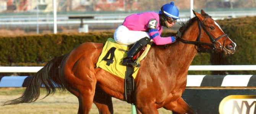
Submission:
{"label": "brown horse's head with white blaze and dark bridle", "polygon": [[224,55],[235,53],[237,44],[230,40],[228,35],[223,32],[219,24],[217,24],[211,16],[205,13],[203,9],[201,10],[201,14],[194,10],[193,13],[196,17],[192,19],[197,20],[199,34],[196,41],[180,38],[183,43],[195,44],[197,50],[200,50],[201,48],[211,48],[223,52]]}

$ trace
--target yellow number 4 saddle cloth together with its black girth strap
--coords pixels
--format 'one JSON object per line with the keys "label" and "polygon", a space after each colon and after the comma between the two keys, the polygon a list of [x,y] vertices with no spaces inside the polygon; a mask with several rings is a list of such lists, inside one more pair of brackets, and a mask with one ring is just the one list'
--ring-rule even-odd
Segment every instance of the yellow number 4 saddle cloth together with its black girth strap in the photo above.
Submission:
{"label": "yellow number 4 saddle cloth together with its black girth strap", "polygon": [[[135,56],[138,62],[146,57],[152,43],[153,42],[147,44],[147,46]],[[139,67],[133,68],[122,65],[123,58],[126,57],[129,47],[130,46],[116,43],[113,38],[108,38],[96,63],[96,67],[125,79],[125,100],[133,104],[134,79],[136,78]]]}

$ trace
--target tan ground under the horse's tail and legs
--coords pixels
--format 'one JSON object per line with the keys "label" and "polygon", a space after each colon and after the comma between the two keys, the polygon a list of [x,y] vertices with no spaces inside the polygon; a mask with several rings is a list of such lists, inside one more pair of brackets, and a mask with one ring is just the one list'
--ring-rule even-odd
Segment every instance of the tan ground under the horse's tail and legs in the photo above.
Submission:
{"label": "tan ground under the horse's tail and legs", "polygon": [[[18,98],[20,95],[0,95],[0,104]],[[43,98],[42,95],[40,98]],[[125,101],[113,98],[114,114],[131,114],[131,105]],[[0,114],[77,114],[78,100],[70,94],[55,93],[43,100],[34,103],[0,106]],[[159,109],[160,114],[170,114],[164,108]],[[92,105],[90,114],[99,114],[95,105]]]}

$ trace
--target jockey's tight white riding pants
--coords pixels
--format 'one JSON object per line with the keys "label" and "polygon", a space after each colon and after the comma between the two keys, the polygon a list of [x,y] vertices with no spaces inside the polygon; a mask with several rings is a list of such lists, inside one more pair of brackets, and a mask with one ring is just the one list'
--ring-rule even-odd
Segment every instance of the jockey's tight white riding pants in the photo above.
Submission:
{"label": "jockey's tight white riding pants", "polygon": [[150,38],[149,33],[144,31],[129,30],[124,25],[119,25],[119,27],[117,28],[117,30],[115,30],[114,33],[115,42],[121,45],[133,44],[144,37]]}

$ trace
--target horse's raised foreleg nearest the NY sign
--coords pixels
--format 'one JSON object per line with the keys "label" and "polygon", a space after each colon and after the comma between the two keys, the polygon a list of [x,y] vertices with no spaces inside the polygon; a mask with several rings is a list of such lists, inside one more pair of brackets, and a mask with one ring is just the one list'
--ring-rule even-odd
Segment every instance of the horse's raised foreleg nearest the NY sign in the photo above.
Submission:
{"label": "horse's raised foreleg nearest the NY sign", "polygon": [[164,108],[173,111],[173,114],[197,114],[183,98],[165,105]]}

